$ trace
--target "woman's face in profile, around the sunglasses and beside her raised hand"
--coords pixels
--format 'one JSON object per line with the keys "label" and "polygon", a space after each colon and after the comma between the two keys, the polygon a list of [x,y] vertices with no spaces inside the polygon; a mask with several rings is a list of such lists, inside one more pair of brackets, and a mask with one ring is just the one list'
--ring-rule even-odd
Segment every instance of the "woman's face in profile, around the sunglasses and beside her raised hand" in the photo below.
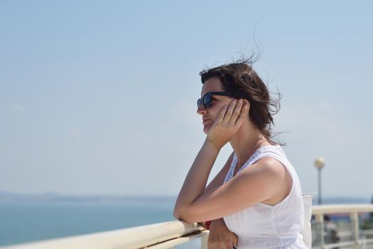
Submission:
{"label": "woman's face in profile, around the sunglasses and beside her raised hand", "polygon": [[[221,81],[217,77],[209,78],[202,86],[201,97],[207,92],[225,92]],[[212,124],[214,124],[216,117],[218,117],[221,108],[224,105],[229,105],[233,97],[211,95],[211,106],[206,108],[204,104],[199,105],[197,113],[202,115],[202,122],[204,124],[204,133],[207,134]]]}

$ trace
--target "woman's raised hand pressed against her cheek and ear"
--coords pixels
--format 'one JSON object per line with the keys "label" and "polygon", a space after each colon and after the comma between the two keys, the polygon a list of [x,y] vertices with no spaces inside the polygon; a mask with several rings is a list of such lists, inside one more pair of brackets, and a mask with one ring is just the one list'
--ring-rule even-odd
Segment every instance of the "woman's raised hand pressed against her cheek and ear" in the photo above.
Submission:
{"label": "woman's raised hand pressed against her cheek and ear", "polygon": [[232,100],[230,105],[223,107],[207,132],[206,139],[214,144],[214,147],[221,149],[236,134],[248,116],[248,105],[248,102],[241,99]]}

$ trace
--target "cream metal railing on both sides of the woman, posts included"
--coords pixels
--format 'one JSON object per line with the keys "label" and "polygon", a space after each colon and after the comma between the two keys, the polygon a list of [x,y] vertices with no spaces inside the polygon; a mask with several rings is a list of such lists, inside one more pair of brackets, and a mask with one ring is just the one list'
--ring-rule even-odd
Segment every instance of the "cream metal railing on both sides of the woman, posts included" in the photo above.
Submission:
{"label": "cream metal railing on both sides of the woman, posts included", "polygon": [[[348,233],[353,235],[353,240],[325,244],[324,215],[336,213],[350,214],[352,231]],[[320,224],[320,228],[316,231],[316,233],[320,233],[318,234],[318,236],[320,236],[320,243],[318,243],[318,245],[312,245],[312,248],[363,248],[364,245],[373,244],[373,238],[368,238],[369,235],[372,235],[373,231],[360,231],[359,229],[359,213],[373,213],[373,205],[312,206],[312,215],[315,216],[315,222]],[[90,233],[88,235],[12,245],[1,247],[0,249],[164,249],[174,248],[176,245],[187,243],[196,238],[201,238],[201,248],[206,249],[208,234],[209,231],[206,231],[197,223],[169,221],[147,226],[137,226],[135,228],[125,228],[117,231]],[[312,237],[316,235],[317,234],[312,233]]]}

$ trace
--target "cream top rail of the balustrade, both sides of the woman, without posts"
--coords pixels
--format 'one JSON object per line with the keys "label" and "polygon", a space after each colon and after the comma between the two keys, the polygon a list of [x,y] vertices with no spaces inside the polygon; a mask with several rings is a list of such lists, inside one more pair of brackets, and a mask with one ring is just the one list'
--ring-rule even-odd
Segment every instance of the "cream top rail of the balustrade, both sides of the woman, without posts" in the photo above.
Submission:
{"label": "cream top rail of the balustrade, both sides of the woman, without posts", "polygon": [[[325,213],[356,214],[360,212],[373,213],[373,204],[312,206],[312,214],[320,217],[320,219],[322,219],[322,215]],[[0,249],[172,248],[172,246],[169,245],[177,245],[201,236],[203,236],[204,243],[206,243],[206,234],[208,234],[208,232],[204,230],[205,229],[198,223],[167,221],[102,233],[90,233],[67,238],[56,238],[33,243],[10,245],[1,247]],[[183,240],[182,238],[188,239]],[[202,243],[202,247],[204,247],[204,243]]]}

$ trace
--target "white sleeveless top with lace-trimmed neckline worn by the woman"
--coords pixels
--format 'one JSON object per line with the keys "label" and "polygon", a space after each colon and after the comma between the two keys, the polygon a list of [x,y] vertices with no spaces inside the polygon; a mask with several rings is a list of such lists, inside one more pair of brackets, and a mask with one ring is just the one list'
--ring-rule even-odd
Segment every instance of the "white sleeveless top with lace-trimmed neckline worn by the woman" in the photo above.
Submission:
{"label": "white sleeveless top with lace-trimmed neckline worn by the woman", "polygon": [[[288,169],[293,179],[290,194],[275,206],[257,203],[242,211],[225,216],[226,226],[238,236],[238,249],[308,248],[300,234],[304,223],[300,181],[295,169],[286,158],[283,149],[279,145],[268,145],[257,149],[241,169],[237,171],[237,174],[245,169],[246,166],[254,164],[263,157],[272,157],[280,161]],[[233,177],[236,164],[237,157],[236,154],[233,154],[231,169],[229,169],[224,183]]]}

